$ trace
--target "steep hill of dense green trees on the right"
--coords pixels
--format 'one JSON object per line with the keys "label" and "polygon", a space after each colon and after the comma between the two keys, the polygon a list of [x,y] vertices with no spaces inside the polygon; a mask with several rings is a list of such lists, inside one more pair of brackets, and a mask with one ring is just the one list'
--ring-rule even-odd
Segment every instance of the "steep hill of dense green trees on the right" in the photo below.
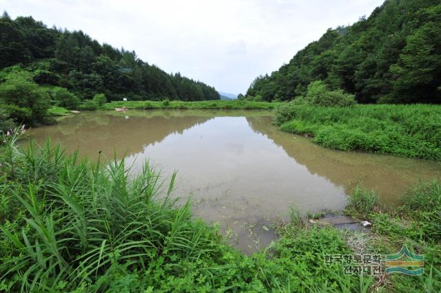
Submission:
{"label": "steep hill of dense green trees on the right", "polygon": [[270,76],[259,76],[247,98],[291,100],[323,80],[358,102],[441,102],[439,0],[388,0],[370,17],[329,29]]}

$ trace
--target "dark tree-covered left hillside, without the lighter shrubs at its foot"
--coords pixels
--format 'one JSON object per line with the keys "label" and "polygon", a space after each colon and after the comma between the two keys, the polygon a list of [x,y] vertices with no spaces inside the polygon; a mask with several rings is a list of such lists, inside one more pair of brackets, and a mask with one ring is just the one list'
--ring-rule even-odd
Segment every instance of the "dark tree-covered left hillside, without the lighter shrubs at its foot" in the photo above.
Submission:
{"label": "dark tree-covered left hillside, without the lighter shrubs at its foot", "polygon": [[[19,65],[19,68],[10,67]],[[48,28],[32,17],[0,17],[0,69],[24,70],[40,85],[65,87],[82,99],[218,100],[214,87],[181,74],[167,74],[80,31]],[[0,83],[3,80],[0,80]]]}

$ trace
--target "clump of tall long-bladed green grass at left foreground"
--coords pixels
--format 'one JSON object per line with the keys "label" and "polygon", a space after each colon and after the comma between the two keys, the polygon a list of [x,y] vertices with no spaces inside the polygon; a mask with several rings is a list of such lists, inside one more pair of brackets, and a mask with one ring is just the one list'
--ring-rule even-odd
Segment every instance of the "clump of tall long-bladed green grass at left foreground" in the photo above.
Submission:
{"label": "clump of tall long-bladed green grass at left foreground", "polygon": [[[2,281],[20,276],[12,288],[29,292],[91,282],[99,290],[119,265],[147,270],[159,255],[199,259],[212,252],[216,235],[190,221],[188,203],[175,207],[168,197],[174,175],[163,186],[148,164],[130,177],[123,160],[91,164],[49,142],[37,152],[34,147],[2,153],[12,157],[3,194],[21,206],[2,217],[0,227],[10,244],[10,258],[0,266]],[[158,196],[163,187],[164,196]]]}

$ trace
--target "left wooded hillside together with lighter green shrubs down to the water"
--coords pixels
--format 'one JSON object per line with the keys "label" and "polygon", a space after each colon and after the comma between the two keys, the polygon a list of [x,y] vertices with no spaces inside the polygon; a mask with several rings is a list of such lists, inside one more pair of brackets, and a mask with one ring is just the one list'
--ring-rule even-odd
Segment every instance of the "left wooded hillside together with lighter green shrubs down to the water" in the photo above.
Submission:
{"label": "left wooded hillside together with lighter green shrubs down to the water", "polygon": [[50,124],[51,106],[94,110],[112,100],[219,100],[214,87],[167,74],[134,51],[32,17],[0,17],[0,131]]}

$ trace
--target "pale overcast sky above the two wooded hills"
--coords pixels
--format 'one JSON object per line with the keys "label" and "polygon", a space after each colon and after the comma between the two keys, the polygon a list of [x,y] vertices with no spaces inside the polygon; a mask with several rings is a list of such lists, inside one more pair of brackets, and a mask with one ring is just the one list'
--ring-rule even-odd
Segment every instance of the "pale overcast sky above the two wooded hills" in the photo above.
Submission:
{"label": "pale overcast sky above the two wooded hills", "polygon": [[166,72],[245,93],[311,41],[383,0],[0,0],[12,18],[83,30]]}

